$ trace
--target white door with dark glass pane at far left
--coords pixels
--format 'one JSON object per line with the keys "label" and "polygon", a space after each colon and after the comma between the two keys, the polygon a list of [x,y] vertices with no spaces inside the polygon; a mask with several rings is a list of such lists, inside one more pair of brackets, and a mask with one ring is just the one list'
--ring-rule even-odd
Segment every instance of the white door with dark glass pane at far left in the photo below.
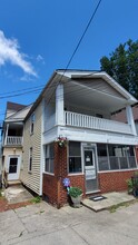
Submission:
{"label": "white door with dark glass pane at far left", "polygon": [[19,175],[20,175],[20,157],[10,156],[8,180],[17,180],[19,179]]}

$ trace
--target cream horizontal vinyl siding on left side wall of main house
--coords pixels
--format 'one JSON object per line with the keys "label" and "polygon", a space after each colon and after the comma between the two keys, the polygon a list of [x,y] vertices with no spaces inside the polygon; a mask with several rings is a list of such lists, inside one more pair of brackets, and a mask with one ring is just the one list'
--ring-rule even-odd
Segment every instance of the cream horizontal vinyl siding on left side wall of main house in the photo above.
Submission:
{"label": "cream horizontal vinyl siding on left side wall of main house", "polygon": [[[29,117],[24,122],[23,133],[23,161],[21,170],[21,182],[32,189],[34,193],[40,194],[40,163],[41,163],[41,118],[42,118],[42,104],[33,111],[34,124],[33,134],[30,135],[30,119]],[[29,154],[32,147],[32,171],[29,173]]]}

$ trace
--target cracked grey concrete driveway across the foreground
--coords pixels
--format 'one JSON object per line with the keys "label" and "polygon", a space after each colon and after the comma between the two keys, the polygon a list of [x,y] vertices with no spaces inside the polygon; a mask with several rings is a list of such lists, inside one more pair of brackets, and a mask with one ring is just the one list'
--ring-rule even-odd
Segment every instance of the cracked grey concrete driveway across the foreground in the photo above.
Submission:
{"label": "cracked grey concrete driveway across the foreground", "polygon": [[0,244],[137,245],[138,204],[115,213],[87,207],[56,209],[46,203],[0,213]]}

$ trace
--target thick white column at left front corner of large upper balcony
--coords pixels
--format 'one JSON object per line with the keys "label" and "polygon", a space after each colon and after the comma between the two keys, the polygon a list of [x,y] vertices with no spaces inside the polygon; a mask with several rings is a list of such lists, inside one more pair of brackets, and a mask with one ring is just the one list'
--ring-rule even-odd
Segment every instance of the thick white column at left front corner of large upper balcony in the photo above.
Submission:
{"label": "thick white column at left front corner of large upper balcony", "polygon": [[65,125],[63,120],[63,85],[56,89],[56,125]]}

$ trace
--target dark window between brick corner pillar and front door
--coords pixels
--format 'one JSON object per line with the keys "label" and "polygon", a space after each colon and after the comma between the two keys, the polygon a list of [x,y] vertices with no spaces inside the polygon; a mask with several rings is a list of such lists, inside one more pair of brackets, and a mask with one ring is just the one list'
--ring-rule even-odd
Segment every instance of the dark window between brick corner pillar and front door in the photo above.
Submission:
{"label": "dark window between brick corner pillar and front door", "polygon": [[69,173],[80,173],[81,167],[81,150],[80,143],[69,143]]}

